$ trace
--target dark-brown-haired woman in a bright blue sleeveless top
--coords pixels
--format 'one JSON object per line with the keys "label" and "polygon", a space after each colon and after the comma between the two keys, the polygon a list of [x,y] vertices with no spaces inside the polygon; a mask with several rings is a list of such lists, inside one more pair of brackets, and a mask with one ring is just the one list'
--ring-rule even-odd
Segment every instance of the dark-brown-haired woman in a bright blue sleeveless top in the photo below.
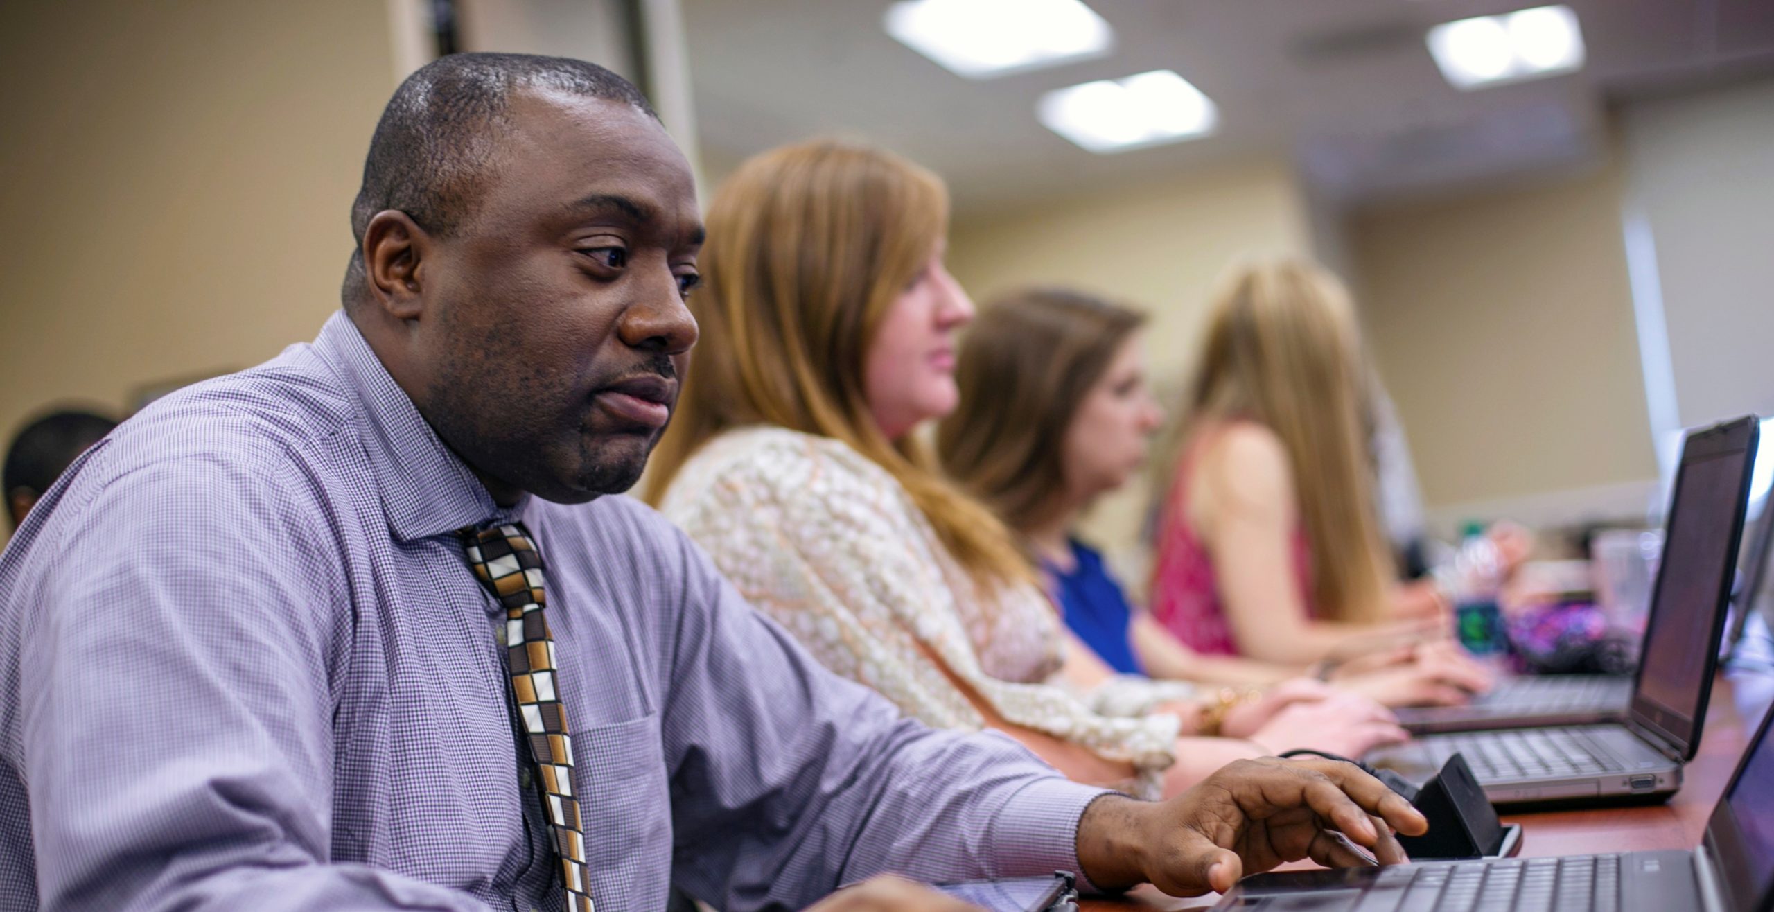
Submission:
{"label": "dark-brown-haired woman in a bright blue sleeveless top", "polygon": [[[1066,626],[1123,674],[1274,683],[1299,664],[1201,655],[1135,612],[1102,555],[1073,536],[1091,504],[1146,461],[1164,413],[1146,385],[1144,316],[1066,289],[1025,289],[981,309],[962,344],[962,405],[937,452],[954,481],[1041,562]],[[1444,651],[1366,662],[1336,683],[1393,706],[1462,701],[1488,685]],[[1377,665],[1377,667],[1373,667]]]}

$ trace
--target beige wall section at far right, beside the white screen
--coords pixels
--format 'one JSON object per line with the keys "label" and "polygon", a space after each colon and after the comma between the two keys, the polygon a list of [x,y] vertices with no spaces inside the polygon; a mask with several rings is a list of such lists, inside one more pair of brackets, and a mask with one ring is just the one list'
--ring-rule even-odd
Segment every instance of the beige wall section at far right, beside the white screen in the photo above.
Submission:
{"label": "beige wall section at far right, beside the white screen", "polygon": [[1432,513],[1536,495],[1575,515],[1644,506],[1657,463],[1621,188],[1609,161],[1352,218],[1368,339]]}

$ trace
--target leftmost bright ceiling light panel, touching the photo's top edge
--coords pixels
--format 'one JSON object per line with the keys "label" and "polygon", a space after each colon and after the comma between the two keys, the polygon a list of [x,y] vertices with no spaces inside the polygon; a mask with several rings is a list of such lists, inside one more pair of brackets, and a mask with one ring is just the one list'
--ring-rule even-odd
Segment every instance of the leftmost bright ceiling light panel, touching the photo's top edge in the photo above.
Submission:
{"label": "leftmost bright ceiling light panel, touching the photo's top edge", "polygon": [[903,0],[887,34],[970,80],[1102,57],[1114,32],[1079,0]]}

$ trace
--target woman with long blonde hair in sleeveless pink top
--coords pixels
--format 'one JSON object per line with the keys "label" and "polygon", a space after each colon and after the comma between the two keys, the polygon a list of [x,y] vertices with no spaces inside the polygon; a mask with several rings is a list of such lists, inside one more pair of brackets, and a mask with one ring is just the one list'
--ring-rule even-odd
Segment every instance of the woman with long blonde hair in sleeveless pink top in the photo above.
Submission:
{"label": "woman with long blonde hair in sleeveless pink top", "polygon": [[1151,614],[1190,649],[1304,665],[1444,635],[1380,531],[1348,293],[1281,259],[1213,298],[1164,499]]}

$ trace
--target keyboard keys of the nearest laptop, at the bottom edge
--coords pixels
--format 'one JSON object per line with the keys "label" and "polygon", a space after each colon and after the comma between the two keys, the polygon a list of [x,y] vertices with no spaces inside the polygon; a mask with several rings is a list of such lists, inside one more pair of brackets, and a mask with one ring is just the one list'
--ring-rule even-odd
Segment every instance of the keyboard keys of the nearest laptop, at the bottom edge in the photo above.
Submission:
{"label": "keyboard keys of the nearest laptop, at the bottom edge", "polygon": [[1354,912],[1620,912],[1620,855],[1385,868]]}

